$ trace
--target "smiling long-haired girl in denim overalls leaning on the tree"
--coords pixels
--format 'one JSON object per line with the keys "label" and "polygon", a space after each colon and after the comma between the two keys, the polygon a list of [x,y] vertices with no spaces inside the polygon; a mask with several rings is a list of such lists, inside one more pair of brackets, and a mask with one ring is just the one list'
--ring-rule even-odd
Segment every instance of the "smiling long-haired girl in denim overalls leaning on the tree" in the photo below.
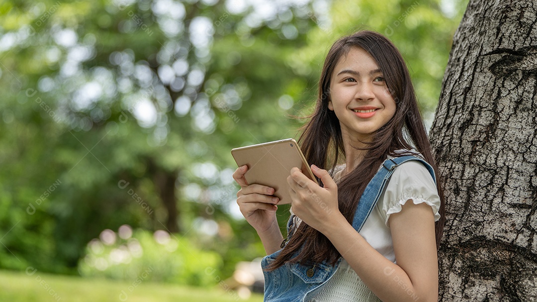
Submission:
{"label": "smiling long-haired girl in denim overalls leaning on the tree", "polygon": [[396,47],[371,31],[337,40],[302,130],[322,186],[291,170],[287,239],[273,188],[248,185],[246,166],[233,176],[237,204],[268,255],[265,301],[437,301],[444,197]]}

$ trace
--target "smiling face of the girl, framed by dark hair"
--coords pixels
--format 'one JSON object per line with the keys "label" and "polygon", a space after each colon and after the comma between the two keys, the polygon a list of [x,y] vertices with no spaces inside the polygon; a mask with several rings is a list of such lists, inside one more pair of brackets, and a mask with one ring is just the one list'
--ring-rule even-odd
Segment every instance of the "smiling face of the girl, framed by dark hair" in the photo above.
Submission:
{"label": "smiling face of the girl, framed by dark hair", "polygon": [[328,109],[336,113],[343,138],[369,141],[395,114],[384,75],[361,47],[339,58],[332,72],[330,97]]}

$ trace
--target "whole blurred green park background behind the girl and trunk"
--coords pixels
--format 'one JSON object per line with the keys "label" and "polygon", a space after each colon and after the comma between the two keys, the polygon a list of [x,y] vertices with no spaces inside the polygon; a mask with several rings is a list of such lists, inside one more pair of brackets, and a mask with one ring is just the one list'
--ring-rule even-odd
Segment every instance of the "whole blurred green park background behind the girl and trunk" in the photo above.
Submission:
{"label": "whole blurred green park background behind the girl and trunk", "polygon": [[231,148],[297,138],[361,29],[401,50],[430,126],[466,4],[2,0],[0,300],[262,301]]}

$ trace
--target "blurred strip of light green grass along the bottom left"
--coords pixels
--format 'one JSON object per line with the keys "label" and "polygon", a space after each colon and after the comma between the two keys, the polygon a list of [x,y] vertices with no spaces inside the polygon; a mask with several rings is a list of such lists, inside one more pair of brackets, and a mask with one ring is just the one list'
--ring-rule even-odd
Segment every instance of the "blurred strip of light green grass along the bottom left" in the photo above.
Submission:
{"label": "blurred strip of light green grass along the bottom left", "polygon": [[25,272],[0,270],[0,301],[261,302],[263,296],[252,294],[249,299],[243,300],[236,292],[226,291],[219,285],[206,289],[142,281],[133,286],[132,282],[49,275],[40,271],[28,276]]}

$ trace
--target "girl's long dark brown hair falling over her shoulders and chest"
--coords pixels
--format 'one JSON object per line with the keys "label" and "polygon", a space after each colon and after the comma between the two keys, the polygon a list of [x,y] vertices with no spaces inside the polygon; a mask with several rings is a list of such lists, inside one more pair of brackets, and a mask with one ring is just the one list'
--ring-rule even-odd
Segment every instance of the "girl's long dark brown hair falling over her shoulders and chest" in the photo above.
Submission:
{"label": "girl's long dark brown hair falling over her shoulders and chest", "polygon": [[[301,128],[302,134],[299,138],[301,149],[309,163],[326,170],[333,170],[339,157],[345,156],[339,120],[336,114],[328,109],[328,103],[333,69],[340,57],[349,53],[353,47],[361,47],[373,56],[386,78],[386,85],[395,100],[396,110],[393,118],[373,134],[371,142],[366,143],[364,159],[339,181],[339,211],[352,224],[362,193],[382,162],[387,159],[387,155],[401,156],[395,154],[395,150],[414,148],[431,164],[437,175],[437,189],[441,201],[440,220],[435,224],[438,247],[445,220],[445,198],[438,168],[419,112],[410,73],[400,52],[386,37],[372,31],[359,31],[340,38],[332,45],[324,61],[315,111],[309,116],[308,123]],[[297,252],[299,254],[293,257]],[[277,269],[286,262],[318,263],[326,260],[333,265],[339,256],[340,253],[326,236],[302,222],[267,270]]]}

